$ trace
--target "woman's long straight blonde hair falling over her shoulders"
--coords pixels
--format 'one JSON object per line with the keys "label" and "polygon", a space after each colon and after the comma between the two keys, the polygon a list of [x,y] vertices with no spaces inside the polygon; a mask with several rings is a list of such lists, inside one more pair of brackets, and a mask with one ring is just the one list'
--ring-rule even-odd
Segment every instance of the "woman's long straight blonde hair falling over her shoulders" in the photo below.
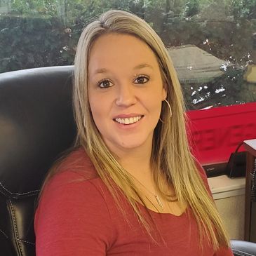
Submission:
{"label": "woman's long straight blonde hair falling over her shoulders", "polygon": [[[198,224],[201,241],[203,238],[208,239],[215,250],[221,245],[228,246],[229,239],[213,199],[209,196],[198,174],[198,166],[189,149],[182,89],[166,47],[154,29],[132,13],[107,11],[91,22],[81,34],[74,61],[74,114],[78,129],[76,146],[82,146],[86,150],[98,175],[111,191],[119,208],[122,210],[119,202],[119,191],[121,191],[133,207],[142,226],[150,234],[148,222],[142,216],[135,201],[135,198],[140,198],[143,202],[140,191],[136,189],[133,180],[119,164],[117,157],[102,141],[90,113],[88,100],[90,49],[99,36],[107,33],[136,36],[147,43],[159,62],[163,85],[167,90],[166,99],[170,102],[173,115],[170,116],[168,106],[163,102],[161,110],[163,123],[159,122],[154,130],[151,152],[151,163],[156,167],[153,168],[153,175],[157,189],[161,191],[160,177],[164,176],[168,184],[173,184],[178,201],[186,203],[191,209]],[[161,194],[168,198],[163,191]],[[125,216],[124,211],[123,215]]]}

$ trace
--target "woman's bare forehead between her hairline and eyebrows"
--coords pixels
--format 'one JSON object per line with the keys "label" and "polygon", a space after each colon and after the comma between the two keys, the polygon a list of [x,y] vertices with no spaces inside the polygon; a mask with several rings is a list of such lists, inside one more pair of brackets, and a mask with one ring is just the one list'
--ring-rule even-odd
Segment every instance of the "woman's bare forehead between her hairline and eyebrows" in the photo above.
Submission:
{"label": "woman's bare forehead between her hairline and eyebrows", "polygon": [[130,34],[104,34],[90,49],[89,72],[109,67],[133,68],[142,63],[158,68],[153,50],[141,39]]}

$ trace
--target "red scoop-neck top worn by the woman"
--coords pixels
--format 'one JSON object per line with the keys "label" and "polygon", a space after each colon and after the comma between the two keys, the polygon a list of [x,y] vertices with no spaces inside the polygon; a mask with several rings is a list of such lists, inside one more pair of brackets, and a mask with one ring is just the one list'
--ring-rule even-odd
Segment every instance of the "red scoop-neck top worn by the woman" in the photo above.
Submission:
{"label": "red scoop-neck top worn by the woman", "polygon": [[[189,209],[180,216],[149,210],[166,242],[157,239],[159,243],[155,243],[121,198],[128,222],[124,220],[83,149],[69,155],[60,168],[43,190],[36,210],[37,256],[233,255],[223,248],[214,254],[207,241],[202,252]],[[140,207],[145,212],[144,206]]]}

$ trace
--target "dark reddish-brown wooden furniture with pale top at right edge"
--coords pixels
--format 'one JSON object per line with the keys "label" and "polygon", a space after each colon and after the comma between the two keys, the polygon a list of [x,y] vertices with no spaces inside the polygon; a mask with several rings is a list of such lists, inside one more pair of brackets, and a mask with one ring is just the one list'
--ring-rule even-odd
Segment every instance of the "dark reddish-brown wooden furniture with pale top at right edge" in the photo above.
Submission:
{"label": "dark reddish-brown wooden furniture with pale top at right edge", "polygon": [[256,242],[256,202],[252,202],[252,177],[255,170],[256,140],[245,140],[246,154],[245,181],[245,241]]}

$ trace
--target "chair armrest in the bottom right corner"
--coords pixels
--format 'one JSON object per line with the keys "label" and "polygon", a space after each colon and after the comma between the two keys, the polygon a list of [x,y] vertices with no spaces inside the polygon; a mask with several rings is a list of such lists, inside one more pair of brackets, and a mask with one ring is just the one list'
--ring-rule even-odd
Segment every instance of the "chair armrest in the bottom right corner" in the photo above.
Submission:
{"label": "chair armrest in the bottom right corner", "polygon": [[256,243],[231,240],[234,256],[256,256]]}

